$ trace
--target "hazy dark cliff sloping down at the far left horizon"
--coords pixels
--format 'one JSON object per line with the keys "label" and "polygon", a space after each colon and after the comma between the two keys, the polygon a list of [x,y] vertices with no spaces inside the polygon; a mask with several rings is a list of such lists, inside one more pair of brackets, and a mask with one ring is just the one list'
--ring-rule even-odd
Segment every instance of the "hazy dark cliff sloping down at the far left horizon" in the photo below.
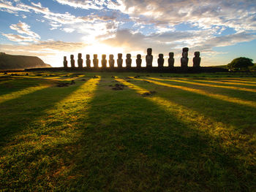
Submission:
{"label": "hazy dark cliff sloping down at the far left horizon", "polygon": [[0,69],[27,69],[37,67],[50,67],[38,57],[25,55],[8,55],[0,53]]}

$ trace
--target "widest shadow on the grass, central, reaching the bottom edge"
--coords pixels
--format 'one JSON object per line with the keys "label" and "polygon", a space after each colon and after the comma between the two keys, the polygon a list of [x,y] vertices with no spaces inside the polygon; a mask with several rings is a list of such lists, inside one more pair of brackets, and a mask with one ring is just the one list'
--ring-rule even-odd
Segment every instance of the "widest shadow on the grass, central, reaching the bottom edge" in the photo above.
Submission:
{"label": "widest shadow on the grass, central, reaching the bottom edge", "polygon": [[241,162],[213,145],[210,135],[128,88],[98,88],[80,122],[85,128],[69,180],[59,181],[65,190],[246,191],[252,187],[252,174],[244,174]]}

